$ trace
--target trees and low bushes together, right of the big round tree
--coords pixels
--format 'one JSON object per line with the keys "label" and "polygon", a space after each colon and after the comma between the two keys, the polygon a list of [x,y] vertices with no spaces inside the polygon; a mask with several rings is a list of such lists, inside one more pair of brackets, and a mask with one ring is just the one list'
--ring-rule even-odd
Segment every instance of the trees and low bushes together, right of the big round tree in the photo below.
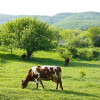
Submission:
{"label": "trees and low bushes together, right of the big round tree", "polygon": [[60,35],[65,42],[58,47],[62,57],[81,58],[84,60],[100,59],[100,27],[90,27],[87,31],[63,30]]}

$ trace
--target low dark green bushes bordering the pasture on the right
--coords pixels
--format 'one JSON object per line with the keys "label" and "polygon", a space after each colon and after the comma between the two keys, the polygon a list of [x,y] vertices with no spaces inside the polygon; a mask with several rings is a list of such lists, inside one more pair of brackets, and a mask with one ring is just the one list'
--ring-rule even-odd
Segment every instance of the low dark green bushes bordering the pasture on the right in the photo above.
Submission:
{"label": "low dark green bushes bordering the pasture on the right", "polygon": [[61,57],[66,58],[79,58],[82,60],[100,60],[100,49],[99,48],[76,48],[74,46],[59,46],[57,51]]}

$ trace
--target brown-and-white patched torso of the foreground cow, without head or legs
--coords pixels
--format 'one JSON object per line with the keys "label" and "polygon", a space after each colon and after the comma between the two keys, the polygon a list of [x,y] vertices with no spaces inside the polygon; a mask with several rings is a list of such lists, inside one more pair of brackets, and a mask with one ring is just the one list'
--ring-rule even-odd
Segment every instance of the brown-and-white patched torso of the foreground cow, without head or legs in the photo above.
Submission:
{"label": "brown-and-white patched torso of the foreground cow, without head or legs", "polygon": [[61,68],[57,66],[35,66],[32,67],[34,75],[38,75],[37,78],[44,80],[52,80],[53,78],[61,78]]}

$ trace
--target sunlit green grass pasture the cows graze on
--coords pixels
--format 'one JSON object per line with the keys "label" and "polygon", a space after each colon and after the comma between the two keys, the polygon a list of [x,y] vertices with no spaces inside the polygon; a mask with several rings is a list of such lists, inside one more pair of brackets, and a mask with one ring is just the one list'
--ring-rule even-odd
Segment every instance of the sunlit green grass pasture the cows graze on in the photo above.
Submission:
{"label": "sunlit green grass pasture the cows graze on", "polygon": [[[100,100],[100,61],[71,60],[64,67],[64,59],[55,51],[38,51],[30,61],[22,60],[24,51],[0,48],[0,100]],[[36,65],[57,65],[62,68],[63,91],[52,81],[43,81],[45,89],[39,84],[29,82],[27,88],[21,89],[20,80],[28,70]],[[80,72],[84,72],[84,77]]]}

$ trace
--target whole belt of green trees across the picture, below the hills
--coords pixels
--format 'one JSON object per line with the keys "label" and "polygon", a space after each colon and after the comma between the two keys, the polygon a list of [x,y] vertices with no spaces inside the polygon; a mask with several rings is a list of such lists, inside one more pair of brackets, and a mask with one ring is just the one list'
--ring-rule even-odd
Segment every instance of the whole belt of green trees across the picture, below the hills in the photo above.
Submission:
{"label": "whole belt of green trees across the picture, below the hills", "polygon": [[[59,45],[61,40],[64,45]],[[57,46],[61,55],[66,57],[68,52],[65,51],[69,51],[69,55],[76,57],[76,48],[100,47],[100,27],[90,27],[87,31],[59,29],[36,17],[22,17],[0,26],[1,44],[10,48],[11,53],[15,47],[26,50],[28,59],[34,51],[51,50]]]}

